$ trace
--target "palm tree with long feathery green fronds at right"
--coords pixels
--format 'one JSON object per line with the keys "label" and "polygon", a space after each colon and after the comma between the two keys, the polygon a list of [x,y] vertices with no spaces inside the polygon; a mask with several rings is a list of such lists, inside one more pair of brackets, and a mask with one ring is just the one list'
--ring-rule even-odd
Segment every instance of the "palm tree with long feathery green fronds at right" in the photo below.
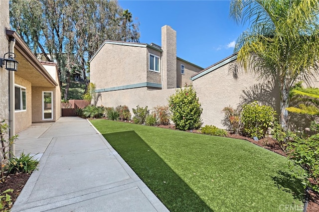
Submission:
{"label": "palm tree with long feathery green fronds at right", "polygon": [[318,73],[318,0],[232,0],[230,15],[249,21],[250,30],[236,42],[237,61],[278,83],[280,124],[287,129],[291,88]]}

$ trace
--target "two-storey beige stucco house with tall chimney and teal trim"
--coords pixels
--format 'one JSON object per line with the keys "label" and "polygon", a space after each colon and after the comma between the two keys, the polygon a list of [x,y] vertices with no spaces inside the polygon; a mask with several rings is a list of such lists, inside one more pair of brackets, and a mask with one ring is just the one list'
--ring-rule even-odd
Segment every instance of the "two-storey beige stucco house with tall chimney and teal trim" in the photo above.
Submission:
{"label": "two-storey beige stucco house with tall chimney and teal trim", "polygon": [[176,56],[176,31],[161,28],[161,46],[154,43],[104,41],[90,59],[90,81],[101,94],[98,105],[167,105],[176,88],[192,84],[203,68]]}

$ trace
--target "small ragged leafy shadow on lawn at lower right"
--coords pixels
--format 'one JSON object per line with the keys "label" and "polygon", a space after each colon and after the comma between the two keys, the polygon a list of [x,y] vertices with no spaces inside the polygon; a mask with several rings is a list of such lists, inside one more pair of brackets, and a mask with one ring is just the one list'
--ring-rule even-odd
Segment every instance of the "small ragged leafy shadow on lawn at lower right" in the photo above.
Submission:
{"label": "small ragged leafy shadow on lawn at lower right", "polygon": [[302,180],[296,178],[288,172],[279,171],[278,176],[273,177],[275,184],[279,189],[293,194],[295,199],[305,201],[305,189]]}

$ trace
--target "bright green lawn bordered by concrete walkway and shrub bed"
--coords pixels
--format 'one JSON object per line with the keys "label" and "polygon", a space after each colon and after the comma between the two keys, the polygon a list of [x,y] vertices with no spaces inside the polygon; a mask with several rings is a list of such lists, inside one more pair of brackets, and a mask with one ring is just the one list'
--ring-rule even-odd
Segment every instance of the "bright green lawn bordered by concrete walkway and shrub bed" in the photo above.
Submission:
{"label": "bright green lawn bordered by concrete walkway and shrub bed", "polygon": [[248,141],[91,122],[170,211],[276,212],[303,206],[303,187],[288,160]]}

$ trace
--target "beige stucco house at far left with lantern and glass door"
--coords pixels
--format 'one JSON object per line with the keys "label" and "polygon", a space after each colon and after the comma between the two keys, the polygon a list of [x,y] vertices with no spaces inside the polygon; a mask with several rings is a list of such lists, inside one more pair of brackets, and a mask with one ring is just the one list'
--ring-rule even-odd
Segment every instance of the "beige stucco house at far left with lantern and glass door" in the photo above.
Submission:
{"label": "beige stucco house at far left with lantern and glass door", "polygon": [[8,0],[1,0],[0,7],[0,58],[10,52],[18,61],[17,71],[6,70],[3,63],[0,67],[0,118],[9,122],[12,136],[32,122],[57,120],[61,116],[61,91],[56,64],[37,60],[23,40],[8,29]]}

